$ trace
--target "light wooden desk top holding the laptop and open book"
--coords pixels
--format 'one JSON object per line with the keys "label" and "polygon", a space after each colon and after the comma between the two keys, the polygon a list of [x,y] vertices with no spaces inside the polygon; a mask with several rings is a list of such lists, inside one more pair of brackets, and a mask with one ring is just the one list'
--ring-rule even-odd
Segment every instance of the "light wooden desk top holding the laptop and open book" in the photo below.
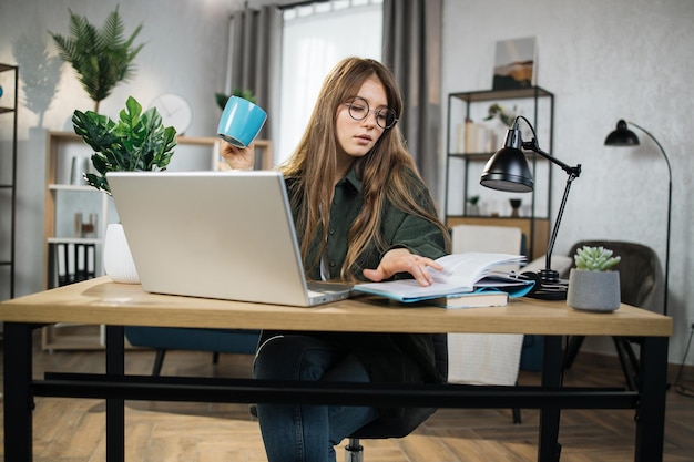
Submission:
{"label": "light wooden desk top holding the laptop and open book", "polygon": [[672,318],[629,305],[595,314],[574,310],[564,301],[521,298],[506,307],[443,309],[367,296],[297,308],[147,294],[140,285],[115,284],[105,276],[3,301],[0,320],[356,332],[672,335]]}

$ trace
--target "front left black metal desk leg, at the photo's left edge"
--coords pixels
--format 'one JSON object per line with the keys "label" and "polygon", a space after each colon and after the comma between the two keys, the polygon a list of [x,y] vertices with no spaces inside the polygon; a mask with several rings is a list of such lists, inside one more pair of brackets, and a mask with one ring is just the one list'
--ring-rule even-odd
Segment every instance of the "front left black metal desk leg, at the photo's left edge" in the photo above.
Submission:
{"label": "front left black metal desk leg, at the photo's left edge", "polygon": [[33,460],[31,331],[28,324],[4,324],[4,460]]}

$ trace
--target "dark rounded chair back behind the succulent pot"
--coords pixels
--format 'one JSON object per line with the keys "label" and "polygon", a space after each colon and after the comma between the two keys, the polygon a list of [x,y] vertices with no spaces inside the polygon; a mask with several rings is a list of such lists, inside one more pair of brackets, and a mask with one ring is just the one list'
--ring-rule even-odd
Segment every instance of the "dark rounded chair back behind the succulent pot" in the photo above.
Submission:
{"label": "dark rounded chair back behind the succulent pot", "polygon": [[583,246],[604,247],[621,257],[621,261],[614,269],[620,271],[620,292],[623,304],[662,311],[660,298],[656,297],[662,278],[661,266],[652,248],[623,240],[581,240],[571,247],[569,256],[573,258],[575,251]]}

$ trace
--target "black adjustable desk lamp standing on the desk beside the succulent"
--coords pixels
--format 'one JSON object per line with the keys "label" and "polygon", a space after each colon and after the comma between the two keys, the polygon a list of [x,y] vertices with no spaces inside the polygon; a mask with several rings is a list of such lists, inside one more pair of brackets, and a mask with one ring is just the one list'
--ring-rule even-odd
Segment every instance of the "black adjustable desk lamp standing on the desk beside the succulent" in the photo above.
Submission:
{"label": "black adjustable desk lamp standing on the desk beside the succulent", "polygon": [[[519,120],[525,121],[530,130],[532,131],[532,141],[523,142],[521,138],[521,131],[518,127]],[[513,121],[513,126],[509,129],[506,135],[506,142],[503,147],[498,151],[487,162],[482,176],[480,177],[480,184],[482,186],[506,191],[512,193],[529,193],[533,189],[534,181],[532,173],[528,166],[528,160],[521,150],[532,151],[542,157],[547,158],[553,164],[559,165],[569,175],[567,179],[567,187],[564,188],[564,195],[559,206],[559,214],[554,222],[554,228],[547,247],[545,268],[535,273],[524,273],[523,275],[535,280],[535,287],[533,291],[529,294],[529,297],[564,300],[567,298],[567,287],[564,281],[559,279],[559,273],[552,269],[552,250],[554,249],[554,242],[557,240],[557,233],[559,232],[559,225],[561,223],[564,208],[567,206],[567,198],[569,197],[569,189],[571,183],[581,175],[581,165],[574,167],[564,164],[552,155],[545,153],[538,145],[535,130],[528,121],[528,119],[519,115]]]}

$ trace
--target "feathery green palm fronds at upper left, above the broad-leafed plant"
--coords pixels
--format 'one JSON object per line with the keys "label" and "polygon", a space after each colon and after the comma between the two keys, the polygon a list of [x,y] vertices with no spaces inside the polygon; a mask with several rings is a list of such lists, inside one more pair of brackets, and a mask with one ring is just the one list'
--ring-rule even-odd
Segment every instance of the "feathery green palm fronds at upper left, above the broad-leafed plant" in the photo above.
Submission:
{"label": "feathery green palm fronds at upper left, above the broad-leafed plant", "polygon": [[119,82],[134,74],[133,60],[144,43],[134,47],[133,42],[142,30],[142,23],[127,39],[124,38],[124,30],[116,6],[101,29],[70,10],[70,37],[49,31],[59,57],[72,64],[82,88],[94,101],[94,112],[99,112],[99,103],[111,94]]}

